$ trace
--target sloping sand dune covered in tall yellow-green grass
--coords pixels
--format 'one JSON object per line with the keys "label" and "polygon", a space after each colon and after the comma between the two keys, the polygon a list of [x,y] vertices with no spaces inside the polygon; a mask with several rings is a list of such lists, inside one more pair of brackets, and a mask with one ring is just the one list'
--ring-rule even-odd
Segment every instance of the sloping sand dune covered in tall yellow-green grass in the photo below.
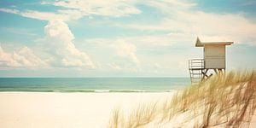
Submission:
{"label": "sloping sand dune covered in tall yellow-green grass", "polygon": [[113,112],[111,128],[248,127],[256,108],[256,71],[219,73],[177,92],[165,102]]}

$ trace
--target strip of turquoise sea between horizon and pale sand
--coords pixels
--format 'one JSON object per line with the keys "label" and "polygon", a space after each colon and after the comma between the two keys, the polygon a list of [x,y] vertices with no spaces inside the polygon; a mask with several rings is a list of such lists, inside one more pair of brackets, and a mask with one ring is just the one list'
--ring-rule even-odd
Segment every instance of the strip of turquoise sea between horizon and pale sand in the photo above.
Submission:
{"label": "strip of turquoise sea between horizon and pale sand", "polygon": [[0,78],[0,91],[161,92],[181,90],[189,78]]}

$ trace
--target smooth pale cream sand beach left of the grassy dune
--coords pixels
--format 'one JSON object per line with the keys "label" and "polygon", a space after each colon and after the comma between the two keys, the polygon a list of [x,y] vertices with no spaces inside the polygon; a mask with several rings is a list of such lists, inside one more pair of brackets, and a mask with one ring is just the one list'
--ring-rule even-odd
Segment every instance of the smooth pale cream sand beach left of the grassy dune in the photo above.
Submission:
{"label": "smooth pale cream sand beach left of the grassy dune", "polygon": [[107,127],[113,108],[129,112],[140,103],[172,94],[1,92],[0,127],[102,128]]}

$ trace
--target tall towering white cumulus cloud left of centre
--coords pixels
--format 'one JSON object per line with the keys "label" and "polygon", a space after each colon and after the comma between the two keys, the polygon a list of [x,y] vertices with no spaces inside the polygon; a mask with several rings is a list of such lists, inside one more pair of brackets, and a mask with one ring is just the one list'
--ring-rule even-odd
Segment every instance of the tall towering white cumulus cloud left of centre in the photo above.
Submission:
{"label": "tall towering white cumulus cloud left of centre", "polygon": [[49,20],[44,26],[47,41],[55,51],[55,61],[67,67],[95,67],[90,57],[73,44],[73,33],[62,20]]}

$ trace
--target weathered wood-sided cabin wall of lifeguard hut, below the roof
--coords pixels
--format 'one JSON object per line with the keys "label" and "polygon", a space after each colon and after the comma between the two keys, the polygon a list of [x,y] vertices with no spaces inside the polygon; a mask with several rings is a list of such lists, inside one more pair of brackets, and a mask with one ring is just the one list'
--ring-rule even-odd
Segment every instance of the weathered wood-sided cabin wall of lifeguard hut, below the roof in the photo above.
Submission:
{"label": "weathered wood-sided cabin wall of lifeguard hut, below the roof", "polygon": [[205,45],[205,68],[225,68],[225,45]]}

